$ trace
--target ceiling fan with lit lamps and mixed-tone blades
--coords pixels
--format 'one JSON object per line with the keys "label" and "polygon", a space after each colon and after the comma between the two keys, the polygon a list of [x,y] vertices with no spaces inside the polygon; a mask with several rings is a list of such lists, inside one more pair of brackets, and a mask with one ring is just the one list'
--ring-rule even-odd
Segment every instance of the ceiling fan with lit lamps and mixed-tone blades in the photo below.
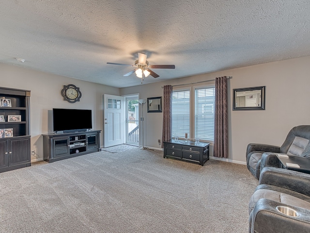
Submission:
{"label": "ceiling fan with lit lamps and mixed-tone blades", "polygon": [[107,64],[111,65],[121,65],[121,66],[129,66],[129,67],[136,67],[134,70],[124,74],[123,76],[129,76],[133,73],[136,73],[137,77],[141,78],[141,83],[144,77],[149,75],[153,76],[154,78],[158,78],[159,75],[156,74],[152,69],[174,69],[174,65],[150,65],[149,62],[146,60],[147,55],[142,52],[138,52],[138,60],[135,61],[135,65],[127,65],[127,64],[120,64],[120,63],[112,63],[107,62]]}

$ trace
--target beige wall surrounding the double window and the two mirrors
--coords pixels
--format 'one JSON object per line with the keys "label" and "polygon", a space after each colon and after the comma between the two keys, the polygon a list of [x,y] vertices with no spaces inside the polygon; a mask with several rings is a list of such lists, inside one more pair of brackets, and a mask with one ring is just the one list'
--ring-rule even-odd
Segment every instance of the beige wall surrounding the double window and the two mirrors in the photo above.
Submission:
{"label": "beige wall surrounding the double window and the two mirrors", "polygon": [[[140,99],[163,96],[163,85],[195,83],[220,76],[232,76],[229,90],[229,159],[245,163],[248,143],[281,146],[287,133],[297,125],[310,124],[310,56],[241,67],[170,81],[121,88],[121,95],[140,93]],[[177,67],[176,67],[177,68]],[[162,72],[164,75],[164,71]],[[152,78],[152,77],[150,77]],[[208,83],[210,84],[210,83]],[[265,110],[232,111],[233,89],[266,86]],[[162,113],[146,113],[144,144],[160,148]]]}

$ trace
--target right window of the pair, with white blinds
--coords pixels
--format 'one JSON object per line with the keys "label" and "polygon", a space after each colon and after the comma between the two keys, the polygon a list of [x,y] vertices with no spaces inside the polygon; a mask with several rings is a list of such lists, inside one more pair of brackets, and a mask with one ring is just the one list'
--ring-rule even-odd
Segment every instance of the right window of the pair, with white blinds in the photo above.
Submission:
{"label": "right window of the pair, with white blinds", "polygon": [[195,89],[195,138],[214,140],[215,87]]}

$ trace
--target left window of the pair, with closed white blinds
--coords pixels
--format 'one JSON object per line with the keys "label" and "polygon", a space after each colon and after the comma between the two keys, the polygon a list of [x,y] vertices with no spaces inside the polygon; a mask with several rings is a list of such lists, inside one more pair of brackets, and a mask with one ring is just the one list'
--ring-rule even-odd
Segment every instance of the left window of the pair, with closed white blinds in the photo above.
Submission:
{"label": "left window of the pair, with closed white blinds", "polygon": [[184,137],[190,133],[190,91],[172,92],[172,136]]}

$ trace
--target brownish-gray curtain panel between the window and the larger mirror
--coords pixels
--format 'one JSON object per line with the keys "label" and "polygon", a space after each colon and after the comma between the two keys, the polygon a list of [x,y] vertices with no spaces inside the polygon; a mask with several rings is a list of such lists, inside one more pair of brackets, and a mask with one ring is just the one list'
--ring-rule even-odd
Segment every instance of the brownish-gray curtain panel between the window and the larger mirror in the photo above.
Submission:
{"label": "brownish-gray curtain panel between the window and the larger mirror", "polygon": [[214,157],[228,157],[227,77],[215,80]]}

